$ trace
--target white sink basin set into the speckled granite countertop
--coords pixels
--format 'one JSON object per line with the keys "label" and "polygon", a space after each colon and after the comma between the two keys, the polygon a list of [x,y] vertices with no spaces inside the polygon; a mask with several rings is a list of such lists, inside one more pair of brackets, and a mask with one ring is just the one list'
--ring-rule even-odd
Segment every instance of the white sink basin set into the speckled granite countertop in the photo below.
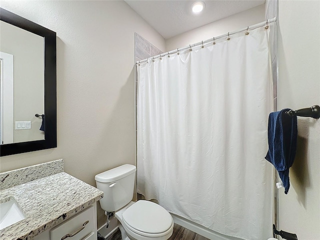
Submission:
{"label": "white sink basin set into the speckled granite countertop", "polygon": [[24,218],[20,207],[12,197],[0,203],[0,230]]}

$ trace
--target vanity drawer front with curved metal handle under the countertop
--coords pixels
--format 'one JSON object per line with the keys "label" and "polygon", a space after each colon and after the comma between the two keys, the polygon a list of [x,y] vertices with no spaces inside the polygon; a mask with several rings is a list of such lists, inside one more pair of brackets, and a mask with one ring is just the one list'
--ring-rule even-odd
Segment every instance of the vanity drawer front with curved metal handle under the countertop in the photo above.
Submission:
{"label": "vanity drawer front with curved metal handle under the countertop", "polygon": [[61,240],[63,237],[65,240],[79,240],[92,231],[94,232],[94,208],[90,206],[52,228],[50,230],[50,240]]}

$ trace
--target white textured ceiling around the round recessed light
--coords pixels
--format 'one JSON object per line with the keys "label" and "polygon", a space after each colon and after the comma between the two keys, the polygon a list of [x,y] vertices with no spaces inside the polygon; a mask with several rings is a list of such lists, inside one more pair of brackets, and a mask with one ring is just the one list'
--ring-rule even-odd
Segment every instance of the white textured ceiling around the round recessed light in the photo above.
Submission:
{"label": "white textured ceiling around the round recessed light", "polygon": [[264,4],[265,0],[202,0],[200,14],[191,11],[197,0],[125,0],[165,39],[210,22]]}

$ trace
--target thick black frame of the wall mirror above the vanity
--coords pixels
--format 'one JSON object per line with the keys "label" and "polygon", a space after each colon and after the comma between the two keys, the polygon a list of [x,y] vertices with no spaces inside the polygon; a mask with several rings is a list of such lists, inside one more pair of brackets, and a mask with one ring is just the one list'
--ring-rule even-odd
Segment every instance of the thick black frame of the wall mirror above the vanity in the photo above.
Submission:
{"label": "thick black frame of the wall mirror above the vanity", "polygon": [[56,147],[56,33],[3,8],[0,21],[43,37],[44,51],[44,139],[0,144],[0,156]]}

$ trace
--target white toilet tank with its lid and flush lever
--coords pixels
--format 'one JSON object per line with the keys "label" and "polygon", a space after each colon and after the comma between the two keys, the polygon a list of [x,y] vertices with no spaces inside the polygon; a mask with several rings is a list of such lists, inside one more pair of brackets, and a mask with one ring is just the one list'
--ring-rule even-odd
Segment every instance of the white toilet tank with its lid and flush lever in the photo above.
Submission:
{"label": "white toilet tank with its lid and flush lever", "polygon": [[116,211],[132,200],[136,167],[124,164],[95,175],[96,187],[103,191],[99,200],[105,211]]}

